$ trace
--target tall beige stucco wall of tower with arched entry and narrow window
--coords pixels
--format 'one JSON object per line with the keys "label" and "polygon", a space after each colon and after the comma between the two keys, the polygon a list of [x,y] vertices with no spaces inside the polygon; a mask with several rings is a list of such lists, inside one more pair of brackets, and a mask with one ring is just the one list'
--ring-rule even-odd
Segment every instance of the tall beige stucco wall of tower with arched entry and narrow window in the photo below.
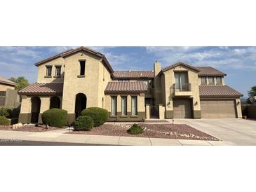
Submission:
{"label": "tall beige stucco wall of tower with arched entry and narrow window", "polygon": [[[78,77],[79,60],[86,60],[86,74],[82,78]],[[65,62],[62,109],[67,110],[68,114],[74,114],[76,95],[80,92],[86,95],[86,107],[102,107],[104,90],[110,81],[109,71],[102,66],[102,60],[95,55],[81,51],[65,57]]]}

